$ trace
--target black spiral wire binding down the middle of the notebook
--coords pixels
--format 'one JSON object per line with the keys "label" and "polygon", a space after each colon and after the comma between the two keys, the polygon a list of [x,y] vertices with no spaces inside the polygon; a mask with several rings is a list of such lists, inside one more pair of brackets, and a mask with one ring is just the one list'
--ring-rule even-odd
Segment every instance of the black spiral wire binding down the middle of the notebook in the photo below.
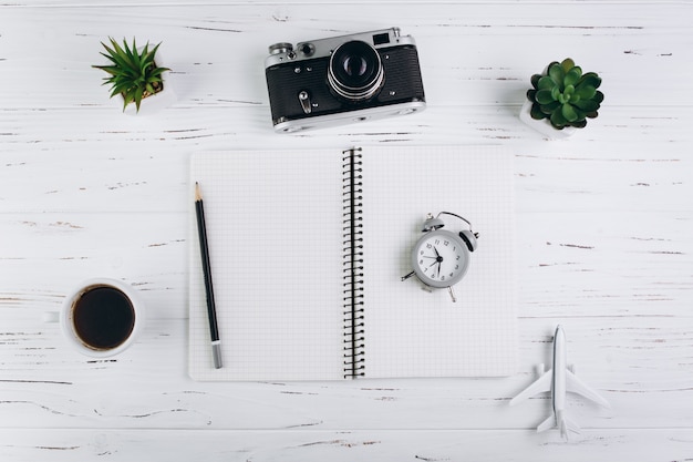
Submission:
{"label": "black spiral wire binding down the middle of the notebook", "polygon": [[344,378],[365,369],[363,326],[363,175],[361,148],[343,152]]}

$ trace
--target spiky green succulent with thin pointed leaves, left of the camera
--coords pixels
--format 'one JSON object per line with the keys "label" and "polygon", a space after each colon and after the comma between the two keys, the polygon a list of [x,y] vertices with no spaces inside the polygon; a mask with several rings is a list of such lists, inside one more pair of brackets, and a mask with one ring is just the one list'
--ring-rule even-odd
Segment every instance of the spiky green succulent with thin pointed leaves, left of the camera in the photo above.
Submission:
{"label": "spiky green succulent with thin pointed leaves, left of the camera", "polygon": [[106,53],[100,53],[111,61],[108,65],[93,65],[92,68],[105,71],[108,76],[104,78],[104,85],[111,85],[111,97],[116,94],[123,96],[123,111],[130,103],[135,103],[137,112],[139,112],[139,103],[143,97],[147,97],[164,90],[162,73],[169,71],[168,68],[158,68],[154,62],[157,44],[149,49],[147,42],[144,48],[137,50],[135,39],[132,47],[127,45],[123,39],[123,47],[115,40],[108,38],[111,47],[101,42]]}

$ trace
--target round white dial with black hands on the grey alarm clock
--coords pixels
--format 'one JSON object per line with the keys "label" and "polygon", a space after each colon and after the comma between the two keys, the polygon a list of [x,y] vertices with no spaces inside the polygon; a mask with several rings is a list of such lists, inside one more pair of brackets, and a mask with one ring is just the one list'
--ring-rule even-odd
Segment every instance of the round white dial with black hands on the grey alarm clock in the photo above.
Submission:
{"label": "round white dial with black hands on the grey alarm clock", "polygon": [[427,286],[443,288],[463,278],[469,266],[469,250],[459,236],[436,229],[418,239],[412,251],[416,276]]}

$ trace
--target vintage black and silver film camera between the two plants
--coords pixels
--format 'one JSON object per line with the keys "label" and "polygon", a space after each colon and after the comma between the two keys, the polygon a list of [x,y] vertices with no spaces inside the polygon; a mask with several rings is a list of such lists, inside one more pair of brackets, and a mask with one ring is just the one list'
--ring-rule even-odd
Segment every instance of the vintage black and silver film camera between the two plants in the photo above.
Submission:
{"label": "vintage black and silver film camera between the two plants", "polygon": [[265,75],[278,133],[426,107],[418,53],[397,28],[269,47]]}

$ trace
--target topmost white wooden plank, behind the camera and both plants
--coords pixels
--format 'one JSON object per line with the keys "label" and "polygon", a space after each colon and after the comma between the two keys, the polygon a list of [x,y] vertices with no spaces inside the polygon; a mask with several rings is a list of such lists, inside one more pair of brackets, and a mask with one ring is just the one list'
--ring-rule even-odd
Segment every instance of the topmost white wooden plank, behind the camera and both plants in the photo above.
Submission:
{"label": "topmost white wooden plank, behind the camera and both plants", "polygon": [[[504,105],[518,101],[529,76],[568,55],[599,72],[607,104],[691,104],[679,63],[693,58],[693,4],[406,3],[383,16],[379,3],[6,8],[0,25],[0,99],[4,107],[117,104],[101,88],[100,41],[136,37],[163,42],[178,94],[176,106],[267,103],[263,60],[275,42],[402,28],[417,41],[433,104]],[[386,10],[386,9],[385,9]],[[394,21],[394,22],[393,22]],[[29,27],[24,24],[30,24]],[[527,57],[523,50],[534,50]],[[666,84],[645,89],[648,68]],[[50,79],[45,79],[50,75]],[[17,92],[15,88],[31,89]],[[521,99],[521,96],[520,96]],[[521,100],[520,100],[521,101]]]}

